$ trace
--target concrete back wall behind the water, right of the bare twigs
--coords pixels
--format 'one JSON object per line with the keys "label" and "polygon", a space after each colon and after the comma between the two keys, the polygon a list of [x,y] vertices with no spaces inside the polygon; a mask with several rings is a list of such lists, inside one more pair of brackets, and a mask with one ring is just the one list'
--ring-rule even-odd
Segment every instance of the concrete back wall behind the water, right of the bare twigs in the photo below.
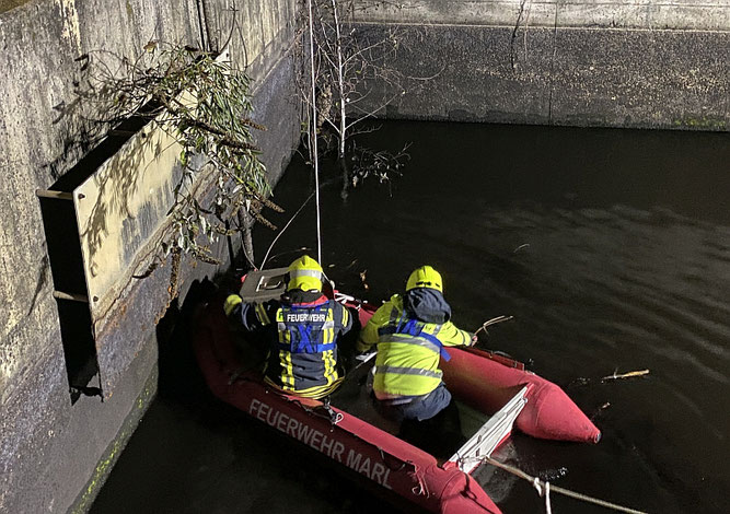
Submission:
{"label": "concrete back wall behind the water, right of the bare twigs", "polygon": [[730,0],[359,3],[363,31],[397,35],[387,66],[418,78],[375,85],[387,117],[730,127]]}

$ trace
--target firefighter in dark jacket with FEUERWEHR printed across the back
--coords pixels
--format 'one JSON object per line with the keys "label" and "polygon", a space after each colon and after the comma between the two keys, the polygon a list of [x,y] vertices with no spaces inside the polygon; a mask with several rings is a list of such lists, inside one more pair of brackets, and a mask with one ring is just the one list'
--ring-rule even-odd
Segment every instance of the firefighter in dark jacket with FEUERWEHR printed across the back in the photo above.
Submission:
{"label": "firefighter in dark jacket with FEUERWEHR printed across the back", "polygon": [[288,269],[287,291],[279,300],[243,303],[230,295],[228,316],[240,317],[247,330],[265,330],[270,341],[265,382],[276,389],[306,398],[322,398],[344,378],[337,340],[352,326],[349,311],[322,294],[323,270],[310,256]]}

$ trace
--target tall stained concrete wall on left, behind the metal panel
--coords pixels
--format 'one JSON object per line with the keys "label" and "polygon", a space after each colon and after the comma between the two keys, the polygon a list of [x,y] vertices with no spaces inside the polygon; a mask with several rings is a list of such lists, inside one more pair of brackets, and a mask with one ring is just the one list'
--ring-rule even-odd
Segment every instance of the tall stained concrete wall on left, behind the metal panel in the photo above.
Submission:
{"label": "tall stained concrete wall on left, behind the metal panel", "polygon": [[170,291],[167,261],[124,288],[96,341],[113,355],[115,387],[104,402],[82,396],[71,404],[35,190],[62,177],[99,136],[99,127],[55,109],[74,100],[74,58],[105,50],[134,59],[150,39],[224,40],[235,16],[232,56],[254,79],[255,117],[270,128],[258,142],[276,180],[299,139],[287,57],[296,1],[237,3],[234,14],[225,0],[0,2],[0,512],[90,505],[155,394],[157,320],[172,296],[182,301],[194,279],[217,271],[183,259],[178,290]]}

